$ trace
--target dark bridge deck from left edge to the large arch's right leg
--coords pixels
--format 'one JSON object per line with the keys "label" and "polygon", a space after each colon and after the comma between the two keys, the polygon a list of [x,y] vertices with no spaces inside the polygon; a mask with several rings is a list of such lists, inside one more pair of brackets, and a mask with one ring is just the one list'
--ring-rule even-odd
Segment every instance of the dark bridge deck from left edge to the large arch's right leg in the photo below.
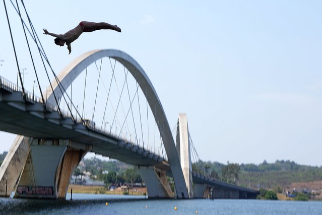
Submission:
{"label": "dark bridge deck from left edge to the large arch's right leg", "polygon": [[85,149],[121,160],[136,166],[156,166],[171,171],[168,162],[132,143],[87,127],[82,121],[73,121],[64,114],[59,116],[54,106],[41,102],[41,98],[26,92],[24,101],[21,89],[0,77],[0,130],[35,139],[68,139],[73,148]]}

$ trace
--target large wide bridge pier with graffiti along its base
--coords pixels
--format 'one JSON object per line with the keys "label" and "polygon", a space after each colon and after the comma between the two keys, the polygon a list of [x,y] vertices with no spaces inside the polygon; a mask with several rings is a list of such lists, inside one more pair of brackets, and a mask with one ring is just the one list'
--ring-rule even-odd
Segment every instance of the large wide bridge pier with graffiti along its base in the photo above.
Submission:
{"label": "large wide bridge pier with graffiti along its base", "polygon": [[71,144],[70,140],[30,138],[15,197],[66,198],[71,175],[87,152],[69,147]]}

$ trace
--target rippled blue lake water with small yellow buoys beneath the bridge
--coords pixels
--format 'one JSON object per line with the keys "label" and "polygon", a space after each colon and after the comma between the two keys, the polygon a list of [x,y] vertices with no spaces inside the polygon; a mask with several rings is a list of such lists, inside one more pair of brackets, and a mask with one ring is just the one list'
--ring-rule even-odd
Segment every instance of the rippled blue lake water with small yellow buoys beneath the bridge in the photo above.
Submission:
{"label": "rippled blue lake water with small yellow buoys beneath the bridge", "polygon": [[322,214],[322,201],[148,200],[105,194],[73,194],[70,198],[71,194],[67,200],[0,198],[0,214]]}

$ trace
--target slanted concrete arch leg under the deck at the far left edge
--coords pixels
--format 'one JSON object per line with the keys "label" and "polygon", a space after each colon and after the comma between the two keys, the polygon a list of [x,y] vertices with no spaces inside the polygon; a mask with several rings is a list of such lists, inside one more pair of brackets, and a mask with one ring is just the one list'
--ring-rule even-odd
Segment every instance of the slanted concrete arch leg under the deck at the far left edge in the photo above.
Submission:
{"label": "slanted concrete arch leg under the deck at the far left edge", "polygon": [[17,135],[0,167],[0,196],[10,196],[10,193],[15,190],[30,151],[28,139],[28,137]]}

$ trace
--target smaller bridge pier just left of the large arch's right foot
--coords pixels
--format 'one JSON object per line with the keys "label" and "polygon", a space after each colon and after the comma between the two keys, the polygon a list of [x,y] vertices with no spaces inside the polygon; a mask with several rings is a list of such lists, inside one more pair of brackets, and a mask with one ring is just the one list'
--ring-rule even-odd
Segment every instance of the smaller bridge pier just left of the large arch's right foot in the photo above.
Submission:
{"label": "smaller bridge pier just left of the large arch's right foot", "polygon": [[165,171],[155,167],[137,167],[139,174],[145,182],[149,198],[173,198],[174,194],[169,185]]}

